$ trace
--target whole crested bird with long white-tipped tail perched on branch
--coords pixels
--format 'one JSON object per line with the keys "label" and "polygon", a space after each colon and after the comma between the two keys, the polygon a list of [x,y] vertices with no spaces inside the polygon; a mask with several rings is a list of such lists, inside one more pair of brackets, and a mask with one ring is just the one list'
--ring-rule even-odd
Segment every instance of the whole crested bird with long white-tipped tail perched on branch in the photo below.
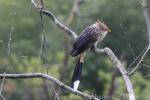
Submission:
{"label": "whole crested bird with long white-tipped tail perched on branch", "polygon": [[89,48],[94,48],[101,42],[108,32],[111,30],[102,21],[97,20],[94,24],[87,26],[73,43],[73,48],[70,52],[72,57],[77,57],[71,87],[74,90],[78,89],[82,66],[84,62],[85,51]]}

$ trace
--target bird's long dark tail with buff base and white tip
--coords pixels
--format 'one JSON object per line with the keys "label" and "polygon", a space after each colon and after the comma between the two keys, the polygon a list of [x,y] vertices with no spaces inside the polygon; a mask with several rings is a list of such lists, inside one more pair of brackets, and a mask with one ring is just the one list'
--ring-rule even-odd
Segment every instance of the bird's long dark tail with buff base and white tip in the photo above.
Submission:
{"label": "bird's long dark tail with buff base and white tip", "polygon": [[72,82],[71,82],[71,87],[75,91],[79,87],[81,73],[82,73],[82,65],[83,65],[83,62],[84,62],[84,56],[85,56],[85,52],[81,53],[77,57],[77,61],[76,61],[76,65],[75,65],[75,69],[74,69],[74,73],[73,73],[73,77],[72,77]]}

